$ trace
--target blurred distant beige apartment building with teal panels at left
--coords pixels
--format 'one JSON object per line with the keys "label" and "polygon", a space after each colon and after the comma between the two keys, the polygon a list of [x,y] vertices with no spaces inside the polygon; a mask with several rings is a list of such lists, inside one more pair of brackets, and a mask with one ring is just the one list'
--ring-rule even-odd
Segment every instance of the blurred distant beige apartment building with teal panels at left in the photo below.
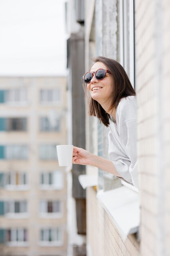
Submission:
{"label": "blurred distant beige apartment building with teal panels at left", "polygon": [[0,255],[67,255],[66,77],[0,77]]}

